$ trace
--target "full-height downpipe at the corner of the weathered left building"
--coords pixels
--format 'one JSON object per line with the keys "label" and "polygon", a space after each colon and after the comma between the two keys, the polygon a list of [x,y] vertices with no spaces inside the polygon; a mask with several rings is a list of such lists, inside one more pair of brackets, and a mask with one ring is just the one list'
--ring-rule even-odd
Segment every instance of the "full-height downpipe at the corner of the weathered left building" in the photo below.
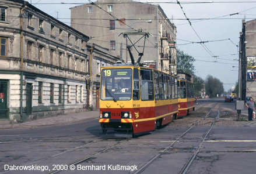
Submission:
{"label": "full-height downpipe at the corner of the weathered left building", "polygon": [[23,111],[23,10],[26,7],[24,6],[20,10],[20,119],[22,120],[22,111]]}

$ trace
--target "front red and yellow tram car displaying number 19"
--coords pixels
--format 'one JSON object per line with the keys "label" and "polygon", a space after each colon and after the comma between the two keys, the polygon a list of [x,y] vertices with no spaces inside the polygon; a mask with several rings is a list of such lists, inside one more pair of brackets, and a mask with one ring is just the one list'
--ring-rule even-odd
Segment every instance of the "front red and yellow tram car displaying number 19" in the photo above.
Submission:
{"label": "front red and yellow tram car displaying number 19", "polygon": [[177,77],[141,66],[101,67],[103,133],[140,135],[169,124],[177,113]]}

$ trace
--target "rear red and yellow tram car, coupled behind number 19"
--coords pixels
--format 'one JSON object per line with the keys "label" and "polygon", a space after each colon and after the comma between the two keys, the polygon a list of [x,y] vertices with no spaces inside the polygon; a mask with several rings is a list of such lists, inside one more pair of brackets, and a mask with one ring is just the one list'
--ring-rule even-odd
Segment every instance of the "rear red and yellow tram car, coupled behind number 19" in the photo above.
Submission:
{"label": "rear red and yellow tram car, coupled behind number 19", "polygon": [[178,117],[184,117],[195,110],[194,84],[178,78]]}

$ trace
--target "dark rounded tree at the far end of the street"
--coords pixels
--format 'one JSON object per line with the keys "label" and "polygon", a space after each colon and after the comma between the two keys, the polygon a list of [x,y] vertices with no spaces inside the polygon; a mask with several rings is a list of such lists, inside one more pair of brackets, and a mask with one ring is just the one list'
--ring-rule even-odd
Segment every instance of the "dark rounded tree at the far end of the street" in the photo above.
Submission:
{"label": "dark rounded tree at the far end of the street", "polygon": [[216,97],[217,94],[220,96],[224,92],[223,83],[212,75],[208,75],[205,79],[205,90],[206,95]]}

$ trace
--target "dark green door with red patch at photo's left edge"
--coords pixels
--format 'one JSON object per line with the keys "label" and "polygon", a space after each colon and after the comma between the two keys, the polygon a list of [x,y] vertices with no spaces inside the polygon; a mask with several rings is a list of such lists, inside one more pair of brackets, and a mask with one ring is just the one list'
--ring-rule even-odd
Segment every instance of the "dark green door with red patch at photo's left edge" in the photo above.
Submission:
{"label": "dark green door with red patch at photo's left edge", "polygon": [[8,118],[8,82],[0,81],[0,119]]}

